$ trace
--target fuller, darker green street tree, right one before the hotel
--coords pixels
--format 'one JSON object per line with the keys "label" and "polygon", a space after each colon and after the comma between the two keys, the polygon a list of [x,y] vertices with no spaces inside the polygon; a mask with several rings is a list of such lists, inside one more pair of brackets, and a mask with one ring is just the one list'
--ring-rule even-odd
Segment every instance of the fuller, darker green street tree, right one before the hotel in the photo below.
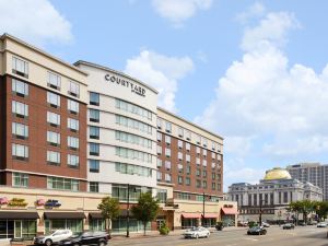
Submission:
{"label": "fuller, darker green street tree, right one before the hotel", "polygon": [[133,216],[143,224],[144,236],[147,223],[155,220],[159,210],[159,200],[153,198],[151,192],[141,194],[138,203],[131,208]]}

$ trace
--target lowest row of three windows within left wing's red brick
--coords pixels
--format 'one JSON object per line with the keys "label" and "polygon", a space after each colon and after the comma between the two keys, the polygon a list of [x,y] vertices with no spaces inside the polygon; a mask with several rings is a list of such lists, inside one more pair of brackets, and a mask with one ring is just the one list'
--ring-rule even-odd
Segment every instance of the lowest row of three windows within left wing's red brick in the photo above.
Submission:
{"label": "lowest row of three windows within left wing's red brick", "polygon": [[[12,143],[12,157],[20,161],[28,161],[28,147]],[[60,152],[47,151],[47,163],[50,165],[60,165]],[[79,167],[79,156],[74,154],[67,155],[67,164],[70,167]]]}

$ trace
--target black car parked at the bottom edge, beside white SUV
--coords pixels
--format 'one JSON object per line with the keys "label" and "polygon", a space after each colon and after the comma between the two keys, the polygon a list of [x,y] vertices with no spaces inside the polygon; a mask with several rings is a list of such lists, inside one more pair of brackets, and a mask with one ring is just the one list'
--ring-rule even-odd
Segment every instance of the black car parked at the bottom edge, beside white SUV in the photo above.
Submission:
{"label": "black car parked at the bottom edge, beside white SUV", "polygon": [[71,237],[60,241],[59,245],[62,246],[83,246],[83,245],[107,245],[109,236],[105,232],[84,232],[77,233]]}

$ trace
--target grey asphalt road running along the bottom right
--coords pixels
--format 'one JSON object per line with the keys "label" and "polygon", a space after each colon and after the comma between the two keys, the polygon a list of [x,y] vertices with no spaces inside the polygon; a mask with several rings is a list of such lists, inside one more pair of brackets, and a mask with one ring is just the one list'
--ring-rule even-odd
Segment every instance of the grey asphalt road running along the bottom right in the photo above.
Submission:
{"label": "grey asphalt road running along the bottom right", "polygon": [[214,232],[210,238],[185,239],[181,235],[160,237],[131,237],[127,239],[110,241],[108,245],[136,246],[328,246],[326,237],[328,229],[315,226],[297,226],[295,230],[281,227],[268,229],[267,235],[246,235],[246,230]]}

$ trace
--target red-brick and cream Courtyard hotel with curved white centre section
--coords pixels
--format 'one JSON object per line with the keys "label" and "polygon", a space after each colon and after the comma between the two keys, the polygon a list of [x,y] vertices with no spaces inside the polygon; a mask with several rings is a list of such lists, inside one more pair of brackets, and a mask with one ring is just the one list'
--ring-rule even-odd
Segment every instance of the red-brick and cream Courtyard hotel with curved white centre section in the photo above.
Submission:
{"label": "red-brick and cream Courtyard hotel with curved white centre section", "polygon": [[[0,37],[0,237],[104,230],[97,206],[151,191],[171,229],[235,221],[223,201],[223,139],[157,107],[157,92],[99,65],[74,66]],[[129,189],[129,190],[128,190]],[[203,200],[204,199],[204,200]],[[130,219],[130,231],[141,223]]]}

